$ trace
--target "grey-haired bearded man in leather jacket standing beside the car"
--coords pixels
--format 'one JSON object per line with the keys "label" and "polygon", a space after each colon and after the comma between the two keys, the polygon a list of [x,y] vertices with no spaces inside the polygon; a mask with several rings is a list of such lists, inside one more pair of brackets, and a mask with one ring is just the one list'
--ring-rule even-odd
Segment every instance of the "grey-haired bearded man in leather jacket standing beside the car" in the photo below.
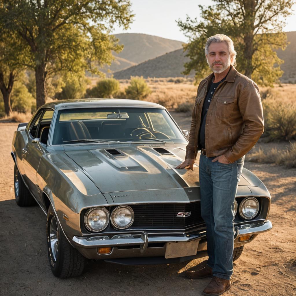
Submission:
{"label": "grey-haired bearded man in leather jacket standing beside the car", "polygon": [[205,56],[213,73],[198,86],[185,161],[176,168],[193,170],[201,150],[200,202],[209,259],[204,268],[186,276],[213,276],[203,295],[221,295],[230,289],[233,273],[234,200],[244,155],[262,135],[264,122],[258,86],[234,68],[232,40],[211,36]]}

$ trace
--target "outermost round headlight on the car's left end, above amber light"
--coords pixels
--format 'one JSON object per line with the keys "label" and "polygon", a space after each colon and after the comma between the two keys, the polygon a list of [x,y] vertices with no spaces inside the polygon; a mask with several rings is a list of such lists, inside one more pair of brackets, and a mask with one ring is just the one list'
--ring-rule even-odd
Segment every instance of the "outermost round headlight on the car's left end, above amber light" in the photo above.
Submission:
{"label": "outermost round headlight on the car's left end, above amber light", "polygon": [[85,215],[84,222],[90,231],[101,231],[108,225],[109,212],[104,207],[90,209]]}

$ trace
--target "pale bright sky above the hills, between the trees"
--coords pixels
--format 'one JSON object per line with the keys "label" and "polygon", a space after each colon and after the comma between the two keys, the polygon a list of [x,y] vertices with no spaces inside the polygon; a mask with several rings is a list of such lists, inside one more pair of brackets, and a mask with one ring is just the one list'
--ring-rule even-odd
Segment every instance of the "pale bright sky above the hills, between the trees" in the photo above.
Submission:
{"label": "pale bright sky above the hills, between the trees", "polygon": [[[176,20],[186,20],[199,17],[199,4],[210,5],[213,1],[198,0],[131,0],[133,13],[136,14],[130,29],[124,31],[116,28],[114,34],[119,33],[143,33],[163,38],[187,42],[188,39],[180,32]],[[287,18],[285,32],[296,30],[296,4],[293,6],[293,14]]]}

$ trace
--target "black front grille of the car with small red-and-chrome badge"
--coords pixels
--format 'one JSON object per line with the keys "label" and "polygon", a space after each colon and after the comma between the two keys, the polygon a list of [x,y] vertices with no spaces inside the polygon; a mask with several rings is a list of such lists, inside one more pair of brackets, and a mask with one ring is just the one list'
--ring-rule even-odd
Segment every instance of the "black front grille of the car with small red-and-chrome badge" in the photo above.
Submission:
{"label": "black front grille of the car with small red-and-chrome badge", "polygon": [[[130,205],[135,213],[133,227],[188,227],[203,222],[200,202]],[[191,212],[189,217],[178,213]]]}

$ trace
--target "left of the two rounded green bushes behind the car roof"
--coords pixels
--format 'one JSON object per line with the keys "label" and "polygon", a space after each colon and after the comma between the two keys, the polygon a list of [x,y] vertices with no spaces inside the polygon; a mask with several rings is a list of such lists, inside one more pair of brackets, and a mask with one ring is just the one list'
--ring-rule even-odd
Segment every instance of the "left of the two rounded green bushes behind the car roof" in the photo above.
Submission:
{"label": "left of the two rounded green bushes behind the car roof", "polygon": [[115,78],[105,78],[91,89],[87,89],[86,97],[88,98],[112,98],[113,94],[119,91],[119,81]]}

